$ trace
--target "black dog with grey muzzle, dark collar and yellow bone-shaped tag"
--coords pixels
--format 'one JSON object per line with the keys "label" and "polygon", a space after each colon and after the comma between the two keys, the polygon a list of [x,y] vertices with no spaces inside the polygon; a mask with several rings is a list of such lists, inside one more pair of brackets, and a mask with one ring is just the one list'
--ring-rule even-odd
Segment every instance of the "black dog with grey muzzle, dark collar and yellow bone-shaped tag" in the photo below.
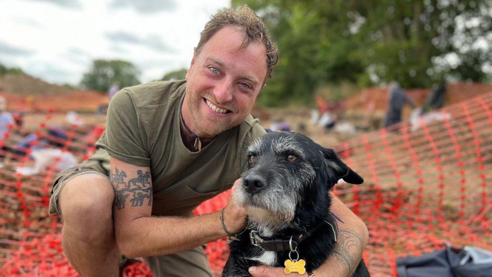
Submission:
{"label": "black dog with grey muzzle, dark collar and yellow bone-shaped tag", "polygon": [[[328,190],[339,179],[363,182],[332,149],[310,138],[271,132],[254,141],[232,196],[246,208],[248,227],[230,242],[222,277],[248,277],[251,266],[284,267],[286,260],[304,260],[307,271],[323,264],[336,243]],[[369,276],[363,261],[354,276]]]}

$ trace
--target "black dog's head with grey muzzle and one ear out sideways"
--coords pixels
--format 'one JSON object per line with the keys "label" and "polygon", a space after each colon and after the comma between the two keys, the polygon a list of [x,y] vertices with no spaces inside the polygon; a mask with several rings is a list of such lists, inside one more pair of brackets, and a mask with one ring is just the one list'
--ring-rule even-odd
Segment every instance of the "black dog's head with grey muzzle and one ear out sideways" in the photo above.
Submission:
{"label": "black dog's head with grey muzzle and one ear out sideways", "polygon": [[248,147],[247,159],[242,184],[233,198],[247,209],[250,220],[269,229],[285,228],[302,214],[326,216],[328,190],[339,179],[363,182],[332,149],[293,132],[258,138]]}

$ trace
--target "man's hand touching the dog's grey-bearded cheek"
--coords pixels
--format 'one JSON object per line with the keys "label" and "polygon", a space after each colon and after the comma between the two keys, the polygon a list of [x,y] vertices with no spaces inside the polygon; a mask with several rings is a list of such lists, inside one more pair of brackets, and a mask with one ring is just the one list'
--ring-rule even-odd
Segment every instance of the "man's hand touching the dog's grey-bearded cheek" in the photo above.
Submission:
{"label": "man's hand touching the dog's grey-bearded cheek", "polygon": [[224,208],[224,224],[226,225],[227,231],[231,234],[239,233],[246,228],[246,217],[248,215],[246,209],[238,206],[232,199],[232,195],[234,195],[240,185],[242,185],[242,180],[239,178],[234,182],[229,202],[226,208]]}

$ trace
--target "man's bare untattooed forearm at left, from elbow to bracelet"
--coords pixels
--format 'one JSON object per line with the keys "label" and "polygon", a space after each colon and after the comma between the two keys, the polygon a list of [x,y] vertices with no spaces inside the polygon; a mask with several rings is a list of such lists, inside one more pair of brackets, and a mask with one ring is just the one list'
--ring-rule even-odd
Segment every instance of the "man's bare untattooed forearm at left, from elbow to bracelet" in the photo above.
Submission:
{"label": "man's bare untattooed forearm at left, from elbow to bracelet", "polygon": [[177,253],[226,236],[218,212],[190,218],[140,217],[125,224],[115,226],[116,241],[131,258]]}

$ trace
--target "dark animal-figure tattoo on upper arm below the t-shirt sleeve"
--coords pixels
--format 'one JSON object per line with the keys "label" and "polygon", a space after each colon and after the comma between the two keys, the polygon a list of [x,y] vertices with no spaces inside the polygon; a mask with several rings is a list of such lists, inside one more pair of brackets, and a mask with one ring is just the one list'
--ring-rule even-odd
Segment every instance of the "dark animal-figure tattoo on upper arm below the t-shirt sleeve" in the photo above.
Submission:
{"label": "dark animal-figure tattoo on upper arm below the t-shirt sleeve", "polygon": [[137,175],[136,178],[131,178],[126,182],[127,173],[125,171],[119,171],[118,168],[115,168],[115,172],[111,172],[110,180],[114,190],[116,208],[125,208],[125,203],[130,195],[131,207],[143,206],[146,198],[148,199],[147,205],[152,205],[150,173],[138,170]]}

